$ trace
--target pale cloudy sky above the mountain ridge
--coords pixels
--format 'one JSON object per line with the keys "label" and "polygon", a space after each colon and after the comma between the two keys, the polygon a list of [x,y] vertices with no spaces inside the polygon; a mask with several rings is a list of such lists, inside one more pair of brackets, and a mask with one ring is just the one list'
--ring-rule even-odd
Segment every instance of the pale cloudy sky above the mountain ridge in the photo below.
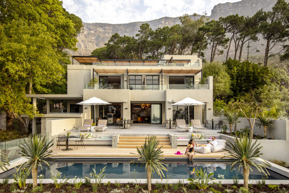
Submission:
{"label": "pale cloudy sky above the mountain ridge", "polygon": [[183,14],[211,15],[219,3],[240,0],[62,0],[63,7],[85,23],[130,23]]}

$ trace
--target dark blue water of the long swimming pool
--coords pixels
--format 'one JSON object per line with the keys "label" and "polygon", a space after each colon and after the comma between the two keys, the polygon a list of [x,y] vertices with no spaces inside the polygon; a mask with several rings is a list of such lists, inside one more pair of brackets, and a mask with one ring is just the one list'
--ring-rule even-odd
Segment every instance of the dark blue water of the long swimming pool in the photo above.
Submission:
{"label": "dark blue water of the long swimming pool", "polygon": [[[233,176],[237,176],[238,179],[243,179],[243,169],[240,171],[236,168],[231,171],[231,166],[227,165],[228,162],[164,162],[168,166],[166,168],[168,171],[163,171],[165,178],[168,179],[187,179],[187,178],[195,178],[196,175],[193,172],[195,170],[200,170],[202,168],[205,169],[208,173],[213,172],[214,175],[212,178],[217,178],[218,175],[224,175],[225,179],[233,179]],[[100,169],[106,166],[106,170],[104,172],[105,179],[145,179],[146,174],[144,172],[144,166],[141,167],[141,164],[136,166],[136,164],[130,162],[53,162],[50,166],[50,170],[54,175],[59,171],[61,173],[61,178],[65,175],[65,178],[83,178],[90,177],[90,172],[92,169],[95,169],[97,174]],[[268,179],[279,179],[279,180],[288,180],[289,178],[279,175],[274,171],[268,170],[270,175],[268,175]],[[13,178],[12,173],[15,171],[6,172],[0,175],[0,179],[4,177],[8,177],[10,179]],[[10,174],[8,174],[10,173]],[[49,170],[38,168],[38,175],[44,175],[44,179],[51,178],[51,172]],[[253,171],[250,171],[249,179],[262,179],[265,175],[260,173],[256,168],[253,168]],[[31,174],[28,179],[31,178]],[[153,173],[154,179],[160,179],[156,173]]]}

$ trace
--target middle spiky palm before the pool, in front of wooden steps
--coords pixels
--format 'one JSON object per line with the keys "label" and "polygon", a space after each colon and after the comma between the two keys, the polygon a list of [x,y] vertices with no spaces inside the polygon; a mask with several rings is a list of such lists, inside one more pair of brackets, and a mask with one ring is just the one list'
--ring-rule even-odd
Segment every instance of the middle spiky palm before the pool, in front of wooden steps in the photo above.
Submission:
{"label": "middle spiky palm before the pool, in front of wooden steps", "polygon": [[[165,163],[161,162],[162,153],[161,147],[157,148],[159,145],[160,140],[156,139],[156,136],[148,136],[148,142],[147,138],[145,138],[144,146],[141,146],[141,148],[137,147],[137,153],[136,155],[140,156],[138,160],[133,160],[131,162],[138,162],[137,165],[142,162],[141,166],[145,163],[145,171],[147,172],[147,181],[148,181],[148,191],[152,190],[151,187],[151,176],[152,172],[156,172],[157,175],[160,175],[160,178],[162,179],[162,175],[164,176],[164,173],[162,170],[168,171],[165,166],[168,166]],[[131,153],[133,154],[133,153]]]}

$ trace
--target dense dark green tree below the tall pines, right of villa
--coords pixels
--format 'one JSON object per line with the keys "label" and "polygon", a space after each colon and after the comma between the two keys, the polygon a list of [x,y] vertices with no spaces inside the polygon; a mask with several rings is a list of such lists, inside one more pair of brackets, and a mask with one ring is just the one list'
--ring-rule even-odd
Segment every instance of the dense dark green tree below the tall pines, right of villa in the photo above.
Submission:
{"label": "dense dark green tree below the tall pines, right of villa", "polygon": [[249,61],[238,62],[229,58],[223,63],[231,78],[233,97],[261,88],[268,82],[270,71],[267,67]]}

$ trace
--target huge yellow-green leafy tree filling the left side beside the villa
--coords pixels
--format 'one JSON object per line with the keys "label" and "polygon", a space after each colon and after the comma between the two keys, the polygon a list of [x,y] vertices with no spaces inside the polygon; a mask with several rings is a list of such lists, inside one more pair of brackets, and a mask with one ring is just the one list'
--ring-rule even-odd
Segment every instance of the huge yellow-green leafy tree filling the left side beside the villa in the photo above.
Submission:
{"label": "huge yellow-green leafy tree filling the left side beside the villa", "polygon": [[33,118],[37,112],[25,93],[54,92],[46,86],[63,83],[64,65],[69,64],[64,50],[77,50],[80,18],[77,21],[64,12],[58,0],[4,1],[0,13],[0,88],[6,93],[0,105],[7,115],[7,129],[12,129],[11,120],[16,117],[28,132],[28,119],[20,114]]}

